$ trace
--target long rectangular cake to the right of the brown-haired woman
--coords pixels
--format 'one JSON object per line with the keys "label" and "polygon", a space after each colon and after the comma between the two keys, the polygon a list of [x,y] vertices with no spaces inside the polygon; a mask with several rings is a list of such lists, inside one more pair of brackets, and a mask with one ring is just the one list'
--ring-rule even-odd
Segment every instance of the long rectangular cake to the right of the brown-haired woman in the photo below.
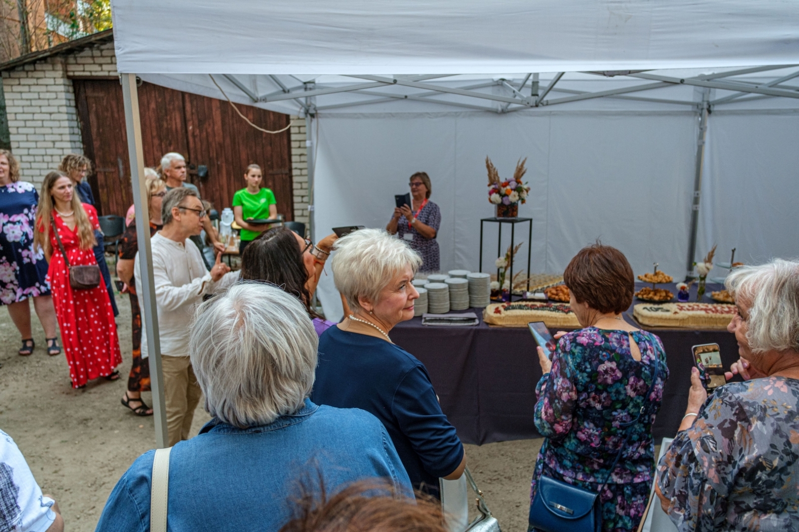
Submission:
{"label": "long rectangular cake to the right of the brown-haired woman", "polygon": [[642,325],[656,327],[707,327],[723,329],[737,313],[735,305],[715,303],[638,303],[633,316]]}

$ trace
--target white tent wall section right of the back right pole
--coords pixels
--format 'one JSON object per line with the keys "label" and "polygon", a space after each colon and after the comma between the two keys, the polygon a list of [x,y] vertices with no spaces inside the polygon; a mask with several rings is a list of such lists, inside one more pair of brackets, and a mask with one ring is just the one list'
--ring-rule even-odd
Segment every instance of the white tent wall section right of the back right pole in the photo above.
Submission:
{"label": "white tent wall section right of the back right pole", "polygon": [[[799,257],[799,112],[710,115],[697,258],[718,244],[717,262]],[[722,276],[713,270],[710,276]]]}

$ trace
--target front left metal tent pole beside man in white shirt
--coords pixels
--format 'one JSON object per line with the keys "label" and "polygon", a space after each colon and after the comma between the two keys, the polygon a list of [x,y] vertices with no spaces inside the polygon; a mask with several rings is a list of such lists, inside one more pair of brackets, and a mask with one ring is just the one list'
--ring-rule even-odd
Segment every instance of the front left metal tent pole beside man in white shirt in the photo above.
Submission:
{"label": "front left metal tent pole beside man in white shirt", "polygon": [[149,238],[149,208],[145,185],[145,157],[141,144],[141,121],[139,120],[139,97],[136,89],[136,74],[121,74],[122,101],[125,104],[125,130],[128,136],[130,178],[133,184],[133,206],[136,209],[136,239],[139,246],[141,267],[141,315],[144,318],[149,354],[150,384],[153,388],[153,420],[155,421],[156,447],[169,445],[164,404],[164,380],[161,372],[161,342],[158,340],[158,312],[153,285],[153,252]]}

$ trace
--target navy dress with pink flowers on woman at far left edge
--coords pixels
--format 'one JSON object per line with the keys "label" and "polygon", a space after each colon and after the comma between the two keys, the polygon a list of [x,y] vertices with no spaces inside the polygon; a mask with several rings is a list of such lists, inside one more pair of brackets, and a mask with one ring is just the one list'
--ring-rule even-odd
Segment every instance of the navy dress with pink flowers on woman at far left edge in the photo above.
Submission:
{"label": "navy dress with pink flowers on woman at far left edge", "polygon": [[0,305],[50,295],[43,250],[34,251],[39,195],[26,181],[0,187]]}

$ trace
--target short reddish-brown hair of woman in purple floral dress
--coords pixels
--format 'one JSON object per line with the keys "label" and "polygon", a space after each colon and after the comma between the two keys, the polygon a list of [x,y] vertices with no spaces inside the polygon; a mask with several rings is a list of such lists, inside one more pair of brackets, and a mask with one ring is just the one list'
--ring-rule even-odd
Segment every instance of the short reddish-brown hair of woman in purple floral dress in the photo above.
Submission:
{"label": "short reddish-brown hair of woman in purple floral dress", "polygon": [[633,302],[635,278],[630,262],[621,251],[601,242],[574,255],[563,281],[578,303],[587,303],[601,313],[622,313]]}

